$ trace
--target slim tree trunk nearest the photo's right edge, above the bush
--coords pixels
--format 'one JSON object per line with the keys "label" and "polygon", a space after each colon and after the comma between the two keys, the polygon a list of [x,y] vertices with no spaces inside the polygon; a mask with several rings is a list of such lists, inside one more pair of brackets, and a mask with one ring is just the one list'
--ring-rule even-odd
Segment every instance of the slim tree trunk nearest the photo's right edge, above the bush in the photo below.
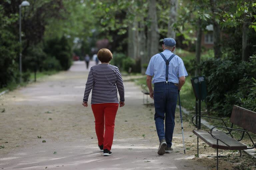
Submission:
{"label": "slim tree trunk nearest the photo's right edge, above the bush", "polygon": [[243,40],[242,40],[242,60],[247,61],[249,58],[249,46],[248,46],[248,32],[249,32],[250,22],[245,20],[243,23]]}

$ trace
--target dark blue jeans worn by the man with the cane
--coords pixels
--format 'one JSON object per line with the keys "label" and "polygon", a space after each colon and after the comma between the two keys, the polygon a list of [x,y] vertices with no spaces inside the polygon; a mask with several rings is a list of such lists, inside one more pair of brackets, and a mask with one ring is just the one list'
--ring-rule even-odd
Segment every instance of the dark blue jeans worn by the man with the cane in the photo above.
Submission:
{"label": "dark blue jeans worn by the man with the cane", "polygon": [[[178,98],[178,87],[171,82],[154,84],[155,123],[159,141],[166,140],[167,147],[172,146],[175,109]],[[164,130],[165,119],[165,130]]]}

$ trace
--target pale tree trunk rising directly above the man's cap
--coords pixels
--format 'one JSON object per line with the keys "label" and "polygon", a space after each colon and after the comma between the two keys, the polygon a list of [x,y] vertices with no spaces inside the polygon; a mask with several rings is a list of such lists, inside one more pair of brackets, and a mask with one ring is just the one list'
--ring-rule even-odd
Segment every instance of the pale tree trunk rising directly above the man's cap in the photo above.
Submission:
{"label": "pale tree trunk rising directly above the man's cap", "polygon": [[173,39],[176,38],[176,32],[174,30],[173,25],[177,21],[177,8],[178,8],[178,0],[170,0],[171,8],[170,8],[170,16],[168,21],[168,32],[167,37],[171,37]]}

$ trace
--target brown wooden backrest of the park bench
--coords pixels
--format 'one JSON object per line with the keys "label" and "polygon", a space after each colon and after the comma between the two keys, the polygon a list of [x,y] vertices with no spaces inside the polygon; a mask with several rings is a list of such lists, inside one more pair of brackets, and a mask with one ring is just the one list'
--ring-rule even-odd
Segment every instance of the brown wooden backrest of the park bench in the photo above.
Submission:
{"label": "brown wooden backrest of the park bench", "polygon": [[234,105],[230,122],[256,133],[256,112]]}

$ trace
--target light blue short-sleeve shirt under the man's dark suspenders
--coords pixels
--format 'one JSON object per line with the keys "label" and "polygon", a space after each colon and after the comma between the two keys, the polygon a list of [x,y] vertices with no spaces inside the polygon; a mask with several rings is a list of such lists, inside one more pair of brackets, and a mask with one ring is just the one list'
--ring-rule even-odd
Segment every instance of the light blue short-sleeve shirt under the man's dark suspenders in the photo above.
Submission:
{"label": "light blue short-sleeve shirt under the man's dark suspenders", "polygon": [[[170,50],[165,49],[162,52],[165,58],[168,60],[173,54]],[[165,82],[165,71],[166,64],[164,59],[160,54],[156,54],[151,57],[146,74],[153,76],[152,83]],[[188,76],[187,70],[184,66],[182,59],[175,55],[169,63],[169,73],[168,73],[168,82],[179,83],[179,77]]]}

